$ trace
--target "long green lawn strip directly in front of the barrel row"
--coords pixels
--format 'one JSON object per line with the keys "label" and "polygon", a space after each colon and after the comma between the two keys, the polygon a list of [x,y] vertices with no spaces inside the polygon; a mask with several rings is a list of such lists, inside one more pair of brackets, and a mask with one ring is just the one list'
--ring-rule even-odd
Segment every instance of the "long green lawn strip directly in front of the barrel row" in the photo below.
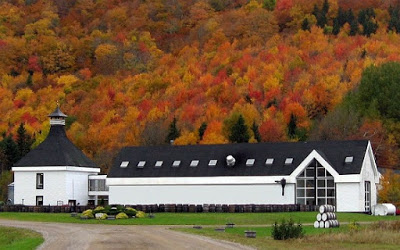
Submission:
{"label": "long green lawn strip directly in front of the barrel row", "polygon": [[[272,225],[275,221],[293,218],[295,223],[313,223],[317,212],[284,212],[284,213],[156,213],[155,218],[129,220],[80,220],[66,213],[0,213],[0,219],[42,221],[84,224],[118,224],[118,225],[225,225],[228,222],[236,225]],[[337,213],[339,222],[400,220],[399,216],[371,216],[358,213]]]}

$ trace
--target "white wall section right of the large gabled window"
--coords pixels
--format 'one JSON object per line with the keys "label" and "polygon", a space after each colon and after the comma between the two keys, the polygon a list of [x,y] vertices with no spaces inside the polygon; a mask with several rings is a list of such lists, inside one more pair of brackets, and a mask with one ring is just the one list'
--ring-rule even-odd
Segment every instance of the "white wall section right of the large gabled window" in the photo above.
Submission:
{"label": "white wall section right of the large gabled window", "polygon": [[363,199],[360,195],[360,183],[336,183],[336,211],[363,212]]}

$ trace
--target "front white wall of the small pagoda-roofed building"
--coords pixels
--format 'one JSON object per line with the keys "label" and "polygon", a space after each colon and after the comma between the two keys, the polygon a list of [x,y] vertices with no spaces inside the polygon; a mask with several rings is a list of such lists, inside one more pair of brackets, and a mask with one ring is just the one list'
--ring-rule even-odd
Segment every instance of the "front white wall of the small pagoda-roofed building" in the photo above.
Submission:
{"label": "front white wall of the small pagoda-roofed building", "polygon": [[[43,173],[43,189],[36,189],[36,174]],[[57,205],[57,201],[68,201],[65,189],[65,172],[15,172],[14,204],[36,205],[36,196],[43,196],[43,205]]]}

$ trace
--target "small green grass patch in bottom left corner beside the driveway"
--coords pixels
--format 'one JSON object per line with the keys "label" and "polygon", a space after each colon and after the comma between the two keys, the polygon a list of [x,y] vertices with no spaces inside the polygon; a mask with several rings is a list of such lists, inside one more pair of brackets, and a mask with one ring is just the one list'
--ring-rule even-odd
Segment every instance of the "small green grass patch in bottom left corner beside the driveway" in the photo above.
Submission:
{"label": "small green grass patch in bottom left corner beside the driveway", "polygon": [[0,249],[35,249],[42,243],[43,237],[40,233],[0,226]]}

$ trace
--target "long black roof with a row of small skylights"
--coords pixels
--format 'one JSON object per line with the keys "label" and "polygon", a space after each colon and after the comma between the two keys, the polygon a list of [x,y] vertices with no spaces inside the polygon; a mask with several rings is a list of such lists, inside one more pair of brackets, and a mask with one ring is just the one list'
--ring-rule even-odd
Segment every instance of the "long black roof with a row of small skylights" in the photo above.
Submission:
{"label": "long black roof with a row of small skylights", "polygon": [[[359,174],[367,146],[364,140],[126,147],[117,155],[108,177],[290,175],[313,150],[339,174]],[[234,167],[226,165],[228,155],[236,159]],[[345,163],[347,156],[353,156],[352,163]],[[267,158],[274,158],[272,165],[265,164]],[[285,165],[286,158],[293,158],[293,163]],[[255,159],[253,166],[246,166],[248,159]],[[192,160],[199,160],[197,167],[190,167]],[[210,160],[217,160],[217,165],[209,166]],[[129,161],[126,168],[120,167],[123,161]],[[146,161],[143,168],[137,167],[139,161]],[[155,167],[156,161],[163,165]],[[181,161],[180,166],[172,167],[174,161]]]}

